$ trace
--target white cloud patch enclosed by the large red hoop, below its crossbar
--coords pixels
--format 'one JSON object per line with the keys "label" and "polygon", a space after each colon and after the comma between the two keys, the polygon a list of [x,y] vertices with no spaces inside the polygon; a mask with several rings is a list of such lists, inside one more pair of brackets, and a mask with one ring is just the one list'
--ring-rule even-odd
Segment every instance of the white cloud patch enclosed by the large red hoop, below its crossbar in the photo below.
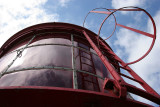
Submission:
{"label": "white cloud patch enclosed by the large red hoop, below its crossbar", "polygon": [[[138,59],[144,55],[152,41],[149,37],[137,34],[127,29],[120,29],[116,35],[117,41],[115,41],[115,45],[123,47],[125,50],[123,51],[123,54],[130,55],[128,62]],[[117,51],[119,51],[118,48]],[[121,56],[123,57],[123,55]]]}

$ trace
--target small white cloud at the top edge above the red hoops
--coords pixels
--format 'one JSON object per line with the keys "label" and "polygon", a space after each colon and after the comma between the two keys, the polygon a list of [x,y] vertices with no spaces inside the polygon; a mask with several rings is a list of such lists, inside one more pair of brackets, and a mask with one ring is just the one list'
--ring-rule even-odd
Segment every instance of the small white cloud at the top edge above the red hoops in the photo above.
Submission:
{"label": "small white cloud at the top edge above the red hoops", "polygon": [[112,7],[115,9],[125,6],[143,6],[146,0],[112,0]]}

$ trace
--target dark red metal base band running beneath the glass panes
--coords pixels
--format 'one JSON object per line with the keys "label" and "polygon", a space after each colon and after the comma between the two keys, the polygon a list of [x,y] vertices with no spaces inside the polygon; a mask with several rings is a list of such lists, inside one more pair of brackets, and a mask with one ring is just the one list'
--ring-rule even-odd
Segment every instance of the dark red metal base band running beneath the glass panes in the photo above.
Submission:
{"label": "dark red metal base band running beneath the glass panes", "polygon": [[3,87],[0,88],[0,96],[2,107],[152,107],[107,93],[57,87]]}

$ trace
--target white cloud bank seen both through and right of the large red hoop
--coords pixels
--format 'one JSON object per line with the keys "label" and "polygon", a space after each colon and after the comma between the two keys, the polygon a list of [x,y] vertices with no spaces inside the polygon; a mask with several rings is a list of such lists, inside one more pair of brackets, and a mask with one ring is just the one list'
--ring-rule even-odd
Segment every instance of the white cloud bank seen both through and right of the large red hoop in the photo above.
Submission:
{"label": "white cloud bank seen both through and right of the large red hoop", "polygon": [[[153,89],[155,89],[160,94],[160,10],[153,17],[157,27],[157,39],[155,45],[150,52],[150,54],[141,60],[140,62],[131,65],[131,68],[142,77]],[[148,32],[153,34],[153,26],[148,21]],[[115,41],[116,46],[120,46],[123,50],[119,50],[121,56],[128,56],[128,61],[133,61],[133,59],[139,58],[143,55],[151,44],[151,38],[134,33],[126,29],[120,29],[116,34],[117,40]],[[136,97],[137,100],[152,104],[151,102],[144,100],[140,97]]]}

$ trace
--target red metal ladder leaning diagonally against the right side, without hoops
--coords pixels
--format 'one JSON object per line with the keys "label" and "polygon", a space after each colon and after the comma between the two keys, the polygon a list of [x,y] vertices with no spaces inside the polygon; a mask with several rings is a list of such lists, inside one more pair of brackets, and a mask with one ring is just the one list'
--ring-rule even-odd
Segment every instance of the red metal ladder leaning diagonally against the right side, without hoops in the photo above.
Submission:
{"label": "red metal ladder leaning diagonally against the right side, without hoops", "polygon": [[[99,39],[99,43],[100,43],[99,46],[101,48],[104,48],[103,49],[104,54],[92,41],[92,39],[95,39],[96,37],[92,37],[91,39],[85,31],[83,31],[83,34],[87,38],[92,48],[96,51],[97,55],[100,57],[105,67],[108,69],[108,71],[111,73],[111,75],[114,78],[114,80],[106,79],[104,81],[104,88],[107,87],[106,84],[108,85],[114,84],[116,88],[119,90],[119,97],[125,98],[128,91],[133,94],[142,96],[146,99],[149,99],[157,104],[160,104],[159,94],[156,91],[154,91],[141,77],[139,77],[123,60],[121,60],[102,40]],[[110,59],[116,60],[119,64],[121,64],[121,66],[114,62],[110,63],[105,58],[105,56]],[[111,64],[126,70],[130,75],[132,75],[133,78],[125,74],[118,73]],[[145,90],[142,90],[140,88],[137,88],[136,86],[126,83],[120,75],[139,83]]]}

